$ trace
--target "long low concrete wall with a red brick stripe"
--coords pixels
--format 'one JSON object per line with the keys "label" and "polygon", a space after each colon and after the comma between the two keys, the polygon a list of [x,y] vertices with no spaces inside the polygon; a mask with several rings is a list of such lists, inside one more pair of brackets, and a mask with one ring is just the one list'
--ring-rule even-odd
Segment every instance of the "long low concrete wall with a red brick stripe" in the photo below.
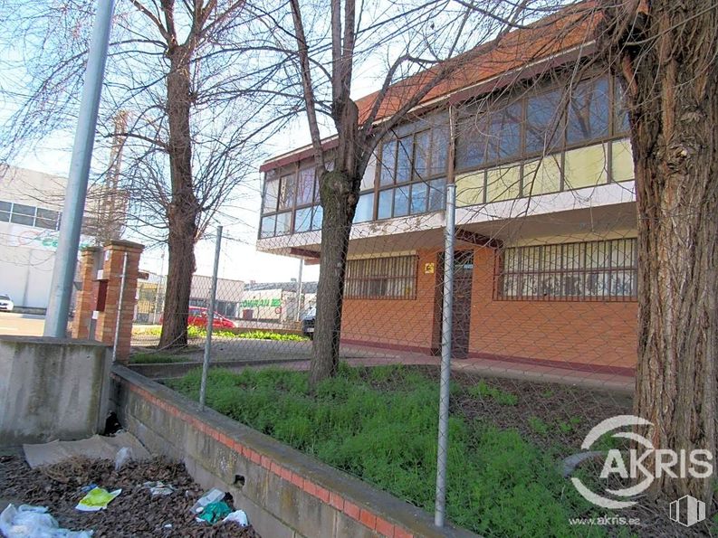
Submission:
{"label": "long low concrete wall with a red brick stripe", "polygon": [[416,506],[215,411],[199,411],[125,367],[113,369],[112,400],[120,422],[149,450],[183,461],[202,486],[229,492],[263,536],[474,536],[436,529]]}

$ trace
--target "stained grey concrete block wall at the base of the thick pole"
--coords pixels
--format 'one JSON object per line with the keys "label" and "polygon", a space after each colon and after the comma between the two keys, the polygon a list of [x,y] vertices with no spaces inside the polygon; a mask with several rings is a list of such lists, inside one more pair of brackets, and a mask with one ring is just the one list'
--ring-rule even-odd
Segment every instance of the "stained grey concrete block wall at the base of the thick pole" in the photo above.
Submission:
{"label": "stained grey concrete block wall at the base of the thick pole", "polygon": [[0,447],[101,431],[109,370],[105,345],[0,336]]}

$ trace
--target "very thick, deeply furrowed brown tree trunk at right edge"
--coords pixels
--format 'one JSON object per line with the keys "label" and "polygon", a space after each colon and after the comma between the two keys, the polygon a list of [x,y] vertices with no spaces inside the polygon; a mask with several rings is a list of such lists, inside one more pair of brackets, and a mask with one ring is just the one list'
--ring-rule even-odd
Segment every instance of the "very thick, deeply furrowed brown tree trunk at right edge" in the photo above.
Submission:
{"label": "very thick, deeply furrowed brown tree trunk at right edge", "polygon": [[[646,10],[636,40],[644,44],[620,52],[638,211],[635,412],[654,424],[641,433],[656,448],[701,448],[714,457],[718,15],[703,0],[655,0]],[[652,493],[709,503],[713,481],[663,474]]]}

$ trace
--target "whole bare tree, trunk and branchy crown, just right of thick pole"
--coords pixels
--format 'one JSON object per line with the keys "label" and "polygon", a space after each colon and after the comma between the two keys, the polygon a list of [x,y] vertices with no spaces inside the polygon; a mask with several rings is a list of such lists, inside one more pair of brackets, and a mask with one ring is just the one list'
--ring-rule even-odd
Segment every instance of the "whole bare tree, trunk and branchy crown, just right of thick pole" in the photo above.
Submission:
{"label": "whole bare tree, trunk and branchy crown, just right of thick pole", "polygon": [[[16,109],[3,131],[5,159],[73,127],[92,4],[5,2],[3,44],[15,52],[2,66],[14,75],[3,96]],[[99,146],[121,143],[121,170],[110,166],[110,174],[129,193],[129,225],[168,244],[163,347],[187,344],[196,241],[254,171],[261,137],[284,118],[281,110],[260,113],[271,92],[252,92],[282,66],[250,61],[244,29],[251,18],[243,0],[117,6]],[[24,42],[21,57],[16,42]],[[124,132],[113,121],[119,110],[126,110]]]}

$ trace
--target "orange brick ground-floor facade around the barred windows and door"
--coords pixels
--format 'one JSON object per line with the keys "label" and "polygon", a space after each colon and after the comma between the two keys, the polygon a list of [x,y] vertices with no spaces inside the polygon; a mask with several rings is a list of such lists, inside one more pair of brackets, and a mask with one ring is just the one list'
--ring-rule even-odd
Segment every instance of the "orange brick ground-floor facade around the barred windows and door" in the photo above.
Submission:
{"label": "orange brick ground-floor facade around the barred windows and door", "polygon": [[[494,250],[473,250],[470,356],[622,373],[635,368],[636,302],[496,300]],[[425,264],[436,267],[438,253],[417,254],[416,299],[347,299],[343,340],[424,353],[436,347],[440,273],[425,273]]]}

